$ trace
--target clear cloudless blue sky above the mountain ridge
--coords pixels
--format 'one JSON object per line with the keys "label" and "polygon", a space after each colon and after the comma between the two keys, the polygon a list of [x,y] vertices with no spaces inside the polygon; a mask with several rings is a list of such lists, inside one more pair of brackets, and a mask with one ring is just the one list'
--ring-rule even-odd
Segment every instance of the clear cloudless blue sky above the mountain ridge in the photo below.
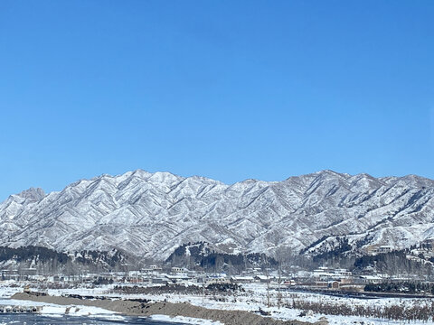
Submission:
{"label": "clear cloudless blue sky above the mountain ridge", "polygon": [[138,168],[434,178],[434,1],[0,2],[0,200]]}

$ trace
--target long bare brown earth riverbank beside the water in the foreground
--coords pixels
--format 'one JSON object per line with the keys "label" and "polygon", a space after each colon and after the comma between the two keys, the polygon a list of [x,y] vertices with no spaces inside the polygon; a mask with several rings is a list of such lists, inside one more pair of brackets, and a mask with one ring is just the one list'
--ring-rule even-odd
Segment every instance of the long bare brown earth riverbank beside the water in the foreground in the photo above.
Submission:
{"label": "long bare brown earth riverbank beside the water in the foreground", "polygon": [[190,303],[172,302],[135,302],[130,300],[89,300],[51,295],[35,295],[19,292],[12,297],[15,300],[32,302],[46,302],[59,305],[84,305],[116,311],[128,316],[148,317],[152,315],[166,315],[169,317],[184,316],[203,320],[220,321],[225,325],[326,325],[326,320],[315,323],[299,320],[274,320],[250,311],[221,311],[193,306]]}

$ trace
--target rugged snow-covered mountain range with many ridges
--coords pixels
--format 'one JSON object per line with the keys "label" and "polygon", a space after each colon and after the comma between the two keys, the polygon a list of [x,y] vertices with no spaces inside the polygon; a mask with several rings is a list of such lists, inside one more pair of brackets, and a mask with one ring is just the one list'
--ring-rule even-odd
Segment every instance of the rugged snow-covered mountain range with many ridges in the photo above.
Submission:
{"label": "rugged snow-covered mountain range with many ridges", "polygon": [[101,175],[0,204],[0,246],[109,250],[165,259],[187,242],[223,252],[312,253],[434,238],[434,181],[331,171],[226,185],[141,170]]}

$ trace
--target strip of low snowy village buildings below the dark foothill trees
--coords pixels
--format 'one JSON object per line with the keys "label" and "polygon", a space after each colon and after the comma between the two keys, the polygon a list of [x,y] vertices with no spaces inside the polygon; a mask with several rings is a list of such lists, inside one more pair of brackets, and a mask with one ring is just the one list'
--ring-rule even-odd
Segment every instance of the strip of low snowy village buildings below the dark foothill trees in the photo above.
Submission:
{"label": "strip of low snowy village buildings below the dark foothill trees", "polygon": [[[373,270],[363,274],[353,274],[346,269],[320,266],[313,271],[288,269],[264,270],[250,268],[241,274],[204,273],[183,267],[149,265],[138,271],[102,272],[80,274],[39,274],[35,268],[4,269],[0,271],[0,284],[31,285],[35,288],[72,288],[85,286],[98,287],[101,284],[120,286],[196,286],[212,284],[265,283],[272,290],[312,291],[312,292],[364,292],[368,284],[393,282],[421,282],[416,276],[377,274]],[[423,283],[429,283],[423,281]],[[402,290],[401,293],[405,293]],[[421,292],[423,293],[423,292]],[[426,292],[427,295],[429,292]]]}

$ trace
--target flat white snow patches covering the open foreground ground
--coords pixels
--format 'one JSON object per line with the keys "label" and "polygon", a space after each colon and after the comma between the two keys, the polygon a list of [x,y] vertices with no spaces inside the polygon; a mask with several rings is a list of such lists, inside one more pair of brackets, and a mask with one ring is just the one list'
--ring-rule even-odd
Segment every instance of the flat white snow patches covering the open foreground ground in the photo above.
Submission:
{"label": "flat white snow patches covering the open foreground ground", "polygon": [[[307,312],[306,316],[301,316],[302,310],[280,307],[278,308],[278,292],[271,291],[270,296],[270,304],[271,307],[267,307],[268,297],[267,297],[267,287],[262,283],[251,283],[251,284],[243,284],[242,285],[246,292],[240,292],[236,295],[227,296],[224,294],[215,294],[215,295],[207,295],[203,299],[200,295],[191,295],[191,294],[159,294],[159,295],[150,295],[150,294],[122,294],[124,298],[142,298],[149,299],[155,302],[190,302],[193,305],[203,306],[205,308],[210,309],[219,309],[219,310],[240,310],[240,311],[259,311],[259,308],[263,311],[269,311],[271,313],[271,317],[278,320],[304,320],[304,321],[316,321],[321,319],[327,319],[330,325],[344,325],[344,324],[364,324],[364,325],[383,325],[387,324],[401,324],[401,321],[392,321],[392,320],[381,320],[375,318],[365,318],[365,317],[356,317],[356,316],[333,316],[326,314],[318,314],[313,312]],[[77,288],[77,289],[60,289],[60,290],[49,290],[49,294],[51,295],[61,295],[65,293],[70,294],[81,294],[81,295],[105,295],[105,296],[120,296],[118,292],[112,291],[113,285],[105,285],[100,286],[95,289],[87,289],[87,288]],[[0,283],[0,297],[10,297],[14,294],[14,292],[22,292],[23,288],[11,288],[9,286],[3,286]],[[9,300],[8,302],[11,303]],[[400,299],[400,298],[380,298],[380,299],[355,299],[355,298],[344,298],[344,297],[335,297],[329,296],[320,293],[307,293],[307,292],[282,292],[282,305],[291,305],[293,302],[326,302],[329,304],[345,304],[348,306],[352,306],[356,308],[357,306],[362,307],[376,307],[383,308],[386,306],[405,306],[411,307],[413,305],[422,305],[422,304],[431,304],[434,302],[432,299]],[[0,303],[2,303],[0,301]],[[34,304],[34,302],[31,302]],[[17,303],[17,304],[23,304]],[[59,312],[64,313],[65,306],[55,306],[43,304],[45,307],[42,309],[42,312],[50,314],[59,314]],[[100,309],[95,309],[94,307],[85,307],[85,306],[77,306],[79,309],[76,312],[78,315],[88,316],[88,313],[91,315],[104,315],[104,310],[99,311]],[[112,311],[106,311],[111,313],[110,315],[113,317],[121,317],[116,315]],[[71,311],[70,311],[71,313]],[[106,314],[107,315],[107,314]],[[107,315],[109,316],[109,315]],[[203,325],[221,325],[218,322],[207,322],[205,320],[197,320],[197,319],[183,319],[175,318],[175,319],[166,319],[166,316],[156,315],[154,316],[155,320],[160,318],[160,320],[171,320],[171,321],[183,321],[189,322],[193,324],[203,324]],[[201,322],[202,321],[202,322]],[[406,321],[406,323],[412,325],[421,325],[426,324],[422,321]]]}

